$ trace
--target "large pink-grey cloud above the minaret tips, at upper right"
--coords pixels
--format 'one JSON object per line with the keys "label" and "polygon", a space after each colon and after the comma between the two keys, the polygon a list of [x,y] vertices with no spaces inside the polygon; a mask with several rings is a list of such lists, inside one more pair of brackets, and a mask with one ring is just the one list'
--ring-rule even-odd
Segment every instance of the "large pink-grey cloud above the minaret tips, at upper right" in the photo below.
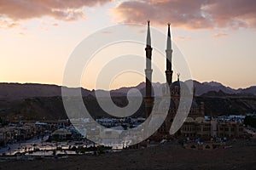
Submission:
{"label": "large pink-grey cloud above the minaret tips, at upper right", "polygon": [[255,0],[125,1],[113,8],[116,20],[186,29],[256,27]]}

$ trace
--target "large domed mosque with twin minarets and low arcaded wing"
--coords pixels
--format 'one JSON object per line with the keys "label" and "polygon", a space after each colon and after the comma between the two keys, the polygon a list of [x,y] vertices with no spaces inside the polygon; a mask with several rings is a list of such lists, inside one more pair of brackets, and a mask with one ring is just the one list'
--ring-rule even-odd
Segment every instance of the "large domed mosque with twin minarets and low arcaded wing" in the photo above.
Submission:
{"label": "large domed mosque with twin minarets and low arcaded wing", "polygon": [[[148,118],[154,111],[154,105],[157,103],[152,95],[152,68],[151,58],[152,50],[151,37],[150,37],[150,22],[148,20],[147,31],[147,45],[146,51],[146,96],[144,98],[145,104],[145,117]],[[179,74],[177,74],[177,81],[172,82],[172,40],[170,24],[168,24],[167,30],[167,44],[166,44],[166,88],[163,89],[163,98],[170,103],[167,105],[167,115],[162,118],[164,122],[161,126],[154,130],[154,134],[149,137],[149,140],[160,141],[162,139],[172,138],[189,138],[189,139],[216,139],[216,138],[241,138],[244,135],[243,124],[239,122],[219,122],[213,117],[210,120],[205,119],[204,103],[197,104],[195,101],[195,88],[189,89],[189,86],[179,80]],[[169,89],[169,90],[168,90]],[[183,101],[189,99],[189,105],[186,111],[179,110],[179,104],[183,104]],[[161,105],[159,105],[161,108]],[[158,110],[160,113],[161,111]],[[176,121],[176,118],[183,115],[184,112],[189,113],[183,116],[184,120],[180,127],[177,127],[175,133],[170,133],[172,130],[172,124]],[[175,125],[175,123],[174,123]]]}

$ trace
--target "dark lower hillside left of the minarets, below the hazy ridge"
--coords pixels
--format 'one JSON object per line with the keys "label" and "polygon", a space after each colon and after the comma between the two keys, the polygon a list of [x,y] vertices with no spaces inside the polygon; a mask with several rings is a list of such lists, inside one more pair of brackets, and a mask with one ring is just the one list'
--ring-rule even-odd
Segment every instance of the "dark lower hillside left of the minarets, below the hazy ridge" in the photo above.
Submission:
{"label": "dark lower hillside left of the minarets, below the hazy ridge", "polygon": [[[84,105],[93,117],[110,117],[98,105],[93,96],[84,97]],[[127,105],[126,97],[113,97],[113,102],[119,107]],[[8,116],[10,120],[58,120],[67,119],[67,114],[62,104],[61,97],[38,97],[20,99],[5,103],[0,101],[0,117]],[[143,105],[133,116],[140,116],[143,113]]]}

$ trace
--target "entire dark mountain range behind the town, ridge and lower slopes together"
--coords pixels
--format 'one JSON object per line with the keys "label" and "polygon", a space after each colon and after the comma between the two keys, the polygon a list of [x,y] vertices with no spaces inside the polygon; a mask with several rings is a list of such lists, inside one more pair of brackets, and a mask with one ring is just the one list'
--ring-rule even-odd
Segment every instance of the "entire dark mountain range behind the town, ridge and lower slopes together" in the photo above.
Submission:
{"label": "entire dark mountain range behind the town, ridge and lower slopes together", "polygon": [[[192,80],[189,80],[192,81]],[[256,87],[232,89],[219,82],[197,82],[195,100],[204,102],[206,114],[246,114],[256,112]],[[161,95],[164,83],[153,83],[154,94]],[[87,90],[80,88],[84,105],[92,116],[110,116],[98,105],[96,93],[100,97],[111,94],[113,103],[124,107],[128,104],[126,94],[132,88],[145,95],[145,82],[136,87],[106,90]],[[131,96],[137,96],[136,91],[130,91]],[[16,119],[42,120],[65,119],[66,111],[61,99],[61,86],[33,83],[0,83],[0,116],[15,117]],[[133,116],[143,116],[143,104]]]}

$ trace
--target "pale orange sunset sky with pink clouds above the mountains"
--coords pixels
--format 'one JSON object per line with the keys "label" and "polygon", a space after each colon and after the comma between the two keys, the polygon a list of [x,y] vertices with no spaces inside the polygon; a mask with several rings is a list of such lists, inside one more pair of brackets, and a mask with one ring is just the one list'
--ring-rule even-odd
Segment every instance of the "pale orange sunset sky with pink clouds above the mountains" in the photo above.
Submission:
{"label": "pale orange sunset sky with pink clouds above the mountains", "polygon": [[[172,43],[187,60],[193,79],[247,88],[256,85],[255,7],[255,0],[0,0],[0,82],[61,85],[70,54],[84,38],[120,23],[144,25],[146,38],[150,20],[164,34],[171,23]],[[121,53],[127,46],[132,44],[99,54],[106,59],[111,49]],[[96,65],[84,69],[89,77],[95,77]],[[164,71],[164,60],[161,65]],[[92,79],[82,86],[96,88]],[[124,73],[113,77],[109,88],[143,81],[143,75]]]}

